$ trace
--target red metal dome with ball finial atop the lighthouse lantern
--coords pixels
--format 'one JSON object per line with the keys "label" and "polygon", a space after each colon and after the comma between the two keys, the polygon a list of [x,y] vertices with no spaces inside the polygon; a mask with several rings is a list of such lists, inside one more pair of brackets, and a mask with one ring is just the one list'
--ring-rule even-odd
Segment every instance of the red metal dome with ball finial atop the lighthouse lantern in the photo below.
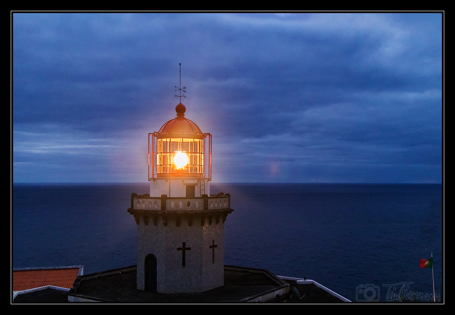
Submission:
{"label": "red metal dome with ball finial atop the lighthouse lantern", "polygon": [[185,105],[179,103],[175,107],[177,118],[166,122],[156,135],[157,139],[161,138],[196,138],[203,139],[205,135],[201,129],[191,120],[185,118]]}

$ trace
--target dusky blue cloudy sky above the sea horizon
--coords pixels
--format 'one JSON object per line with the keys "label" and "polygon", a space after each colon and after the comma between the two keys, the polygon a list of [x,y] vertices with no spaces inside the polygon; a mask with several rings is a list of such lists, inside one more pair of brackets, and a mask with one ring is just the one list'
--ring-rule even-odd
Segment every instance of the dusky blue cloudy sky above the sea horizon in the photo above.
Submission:
{"label": "dusky blue cloudy sky above the sea horizon", "polygon": [[214,182],[441,183],[442,15],[15,13],[13,181],[147,182],[186,116]]}

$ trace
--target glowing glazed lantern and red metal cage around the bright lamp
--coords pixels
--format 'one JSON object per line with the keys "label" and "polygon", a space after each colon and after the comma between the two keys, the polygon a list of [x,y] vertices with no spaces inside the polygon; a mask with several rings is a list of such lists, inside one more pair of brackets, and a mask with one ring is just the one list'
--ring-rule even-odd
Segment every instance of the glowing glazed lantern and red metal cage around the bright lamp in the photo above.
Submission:
{"label": "glowing glazed lantern and red metal cage around the bright lamp", "polygon": [[[157,138],[158,132],[148,134],[148,180],[160,177],[198,177],[212,180],[212,135],[204,133],[202,139],[197,138]],[[152,151],[150,150],[152,137]],[[206,139],[208,147],[206,147]],[[184,141],[188,140],[188,141]],[[192,140],[192,141],[191,141]],[[187,156],[185,167],[177,168],[173,158],[178,152]],[[152,168],[152,172],[150,172]],[[206,177],[207,175],[207,177]]]}

